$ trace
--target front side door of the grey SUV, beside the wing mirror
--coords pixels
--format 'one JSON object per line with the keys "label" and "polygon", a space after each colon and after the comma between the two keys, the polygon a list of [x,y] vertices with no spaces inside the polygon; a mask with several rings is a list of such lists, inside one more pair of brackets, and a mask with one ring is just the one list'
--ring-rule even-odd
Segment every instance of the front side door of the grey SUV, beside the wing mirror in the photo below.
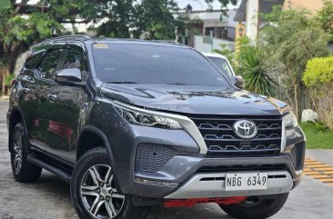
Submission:
{"label": "front side door of the grey SUV, beside the wing mirror", "polygon": [[[88,68],[83,45],[66,45],[65,59],[60,68],[78,68],[83,81],[86,81]],[[52,114],[48,124],[47,151],[75,163],[79,119],[86,103],[85,87],[56,84],[48,95],[53,98],[46,103]]]}

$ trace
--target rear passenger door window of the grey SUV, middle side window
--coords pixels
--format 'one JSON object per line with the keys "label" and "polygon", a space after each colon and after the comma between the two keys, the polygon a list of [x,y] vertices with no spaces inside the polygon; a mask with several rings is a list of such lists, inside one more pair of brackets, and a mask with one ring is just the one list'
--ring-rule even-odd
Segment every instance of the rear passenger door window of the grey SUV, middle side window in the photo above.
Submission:
{"label": "rear passenger door window of the grey SUV, middle side window", "polygon": [[51,79],[59,65],[62,49],[51,50],[45,55],[42,65],[39,66],[39,77]]}

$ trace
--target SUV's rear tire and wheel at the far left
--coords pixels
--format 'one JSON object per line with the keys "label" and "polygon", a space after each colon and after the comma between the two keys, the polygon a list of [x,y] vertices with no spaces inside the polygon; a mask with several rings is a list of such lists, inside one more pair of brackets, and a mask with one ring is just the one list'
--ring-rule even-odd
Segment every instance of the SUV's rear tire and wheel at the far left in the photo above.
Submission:
{"label": "SUV's rear tire and wheel at the far left", "polygon": [[42,168],[27,161],[30,147],[23,124],[16,124],[10,137],[11,164],[15,180],[20,183],[33,183],[39,179]]}

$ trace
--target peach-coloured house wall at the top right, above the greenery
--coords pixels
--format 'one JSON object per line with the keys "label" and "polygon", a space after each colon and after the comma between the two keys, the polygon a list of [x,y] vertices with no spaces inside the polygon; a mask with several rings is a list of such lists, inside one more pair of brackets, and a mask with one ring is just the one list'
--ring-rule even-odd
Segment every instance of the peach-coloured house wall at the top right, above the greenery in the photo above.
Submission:
{"label": "peach-coloured house wall at the top right, above the greenery", "polygon": [[311,11],[318,11],[323,7],[323,0],[286,0],[283,9],[308,8]]}

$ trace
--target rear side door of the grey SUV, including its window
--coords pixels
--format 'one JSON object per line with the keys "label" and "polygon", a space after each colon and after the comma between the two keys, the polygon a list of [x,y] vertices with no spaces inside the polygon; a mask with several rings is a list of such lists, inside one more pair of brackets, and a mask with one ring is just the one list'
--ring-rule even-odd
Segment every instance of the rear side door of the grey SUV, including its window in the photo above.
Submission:
{"label": "rear side door of the grey SUV, including its window", "polygon": [[50,98],[49,91],[55,85],[52,80],[55,71],[61,66],[62,55],[65,44],[53,45],[45,54],[45,57],[35,68],[35,89],[37,104],[30,110],[35,111],[35,118],[32,121],[33,128],[29,134],[30,143],[35,147],[46,150],[50,136],[49,124],[52,109],[46,105]]}

